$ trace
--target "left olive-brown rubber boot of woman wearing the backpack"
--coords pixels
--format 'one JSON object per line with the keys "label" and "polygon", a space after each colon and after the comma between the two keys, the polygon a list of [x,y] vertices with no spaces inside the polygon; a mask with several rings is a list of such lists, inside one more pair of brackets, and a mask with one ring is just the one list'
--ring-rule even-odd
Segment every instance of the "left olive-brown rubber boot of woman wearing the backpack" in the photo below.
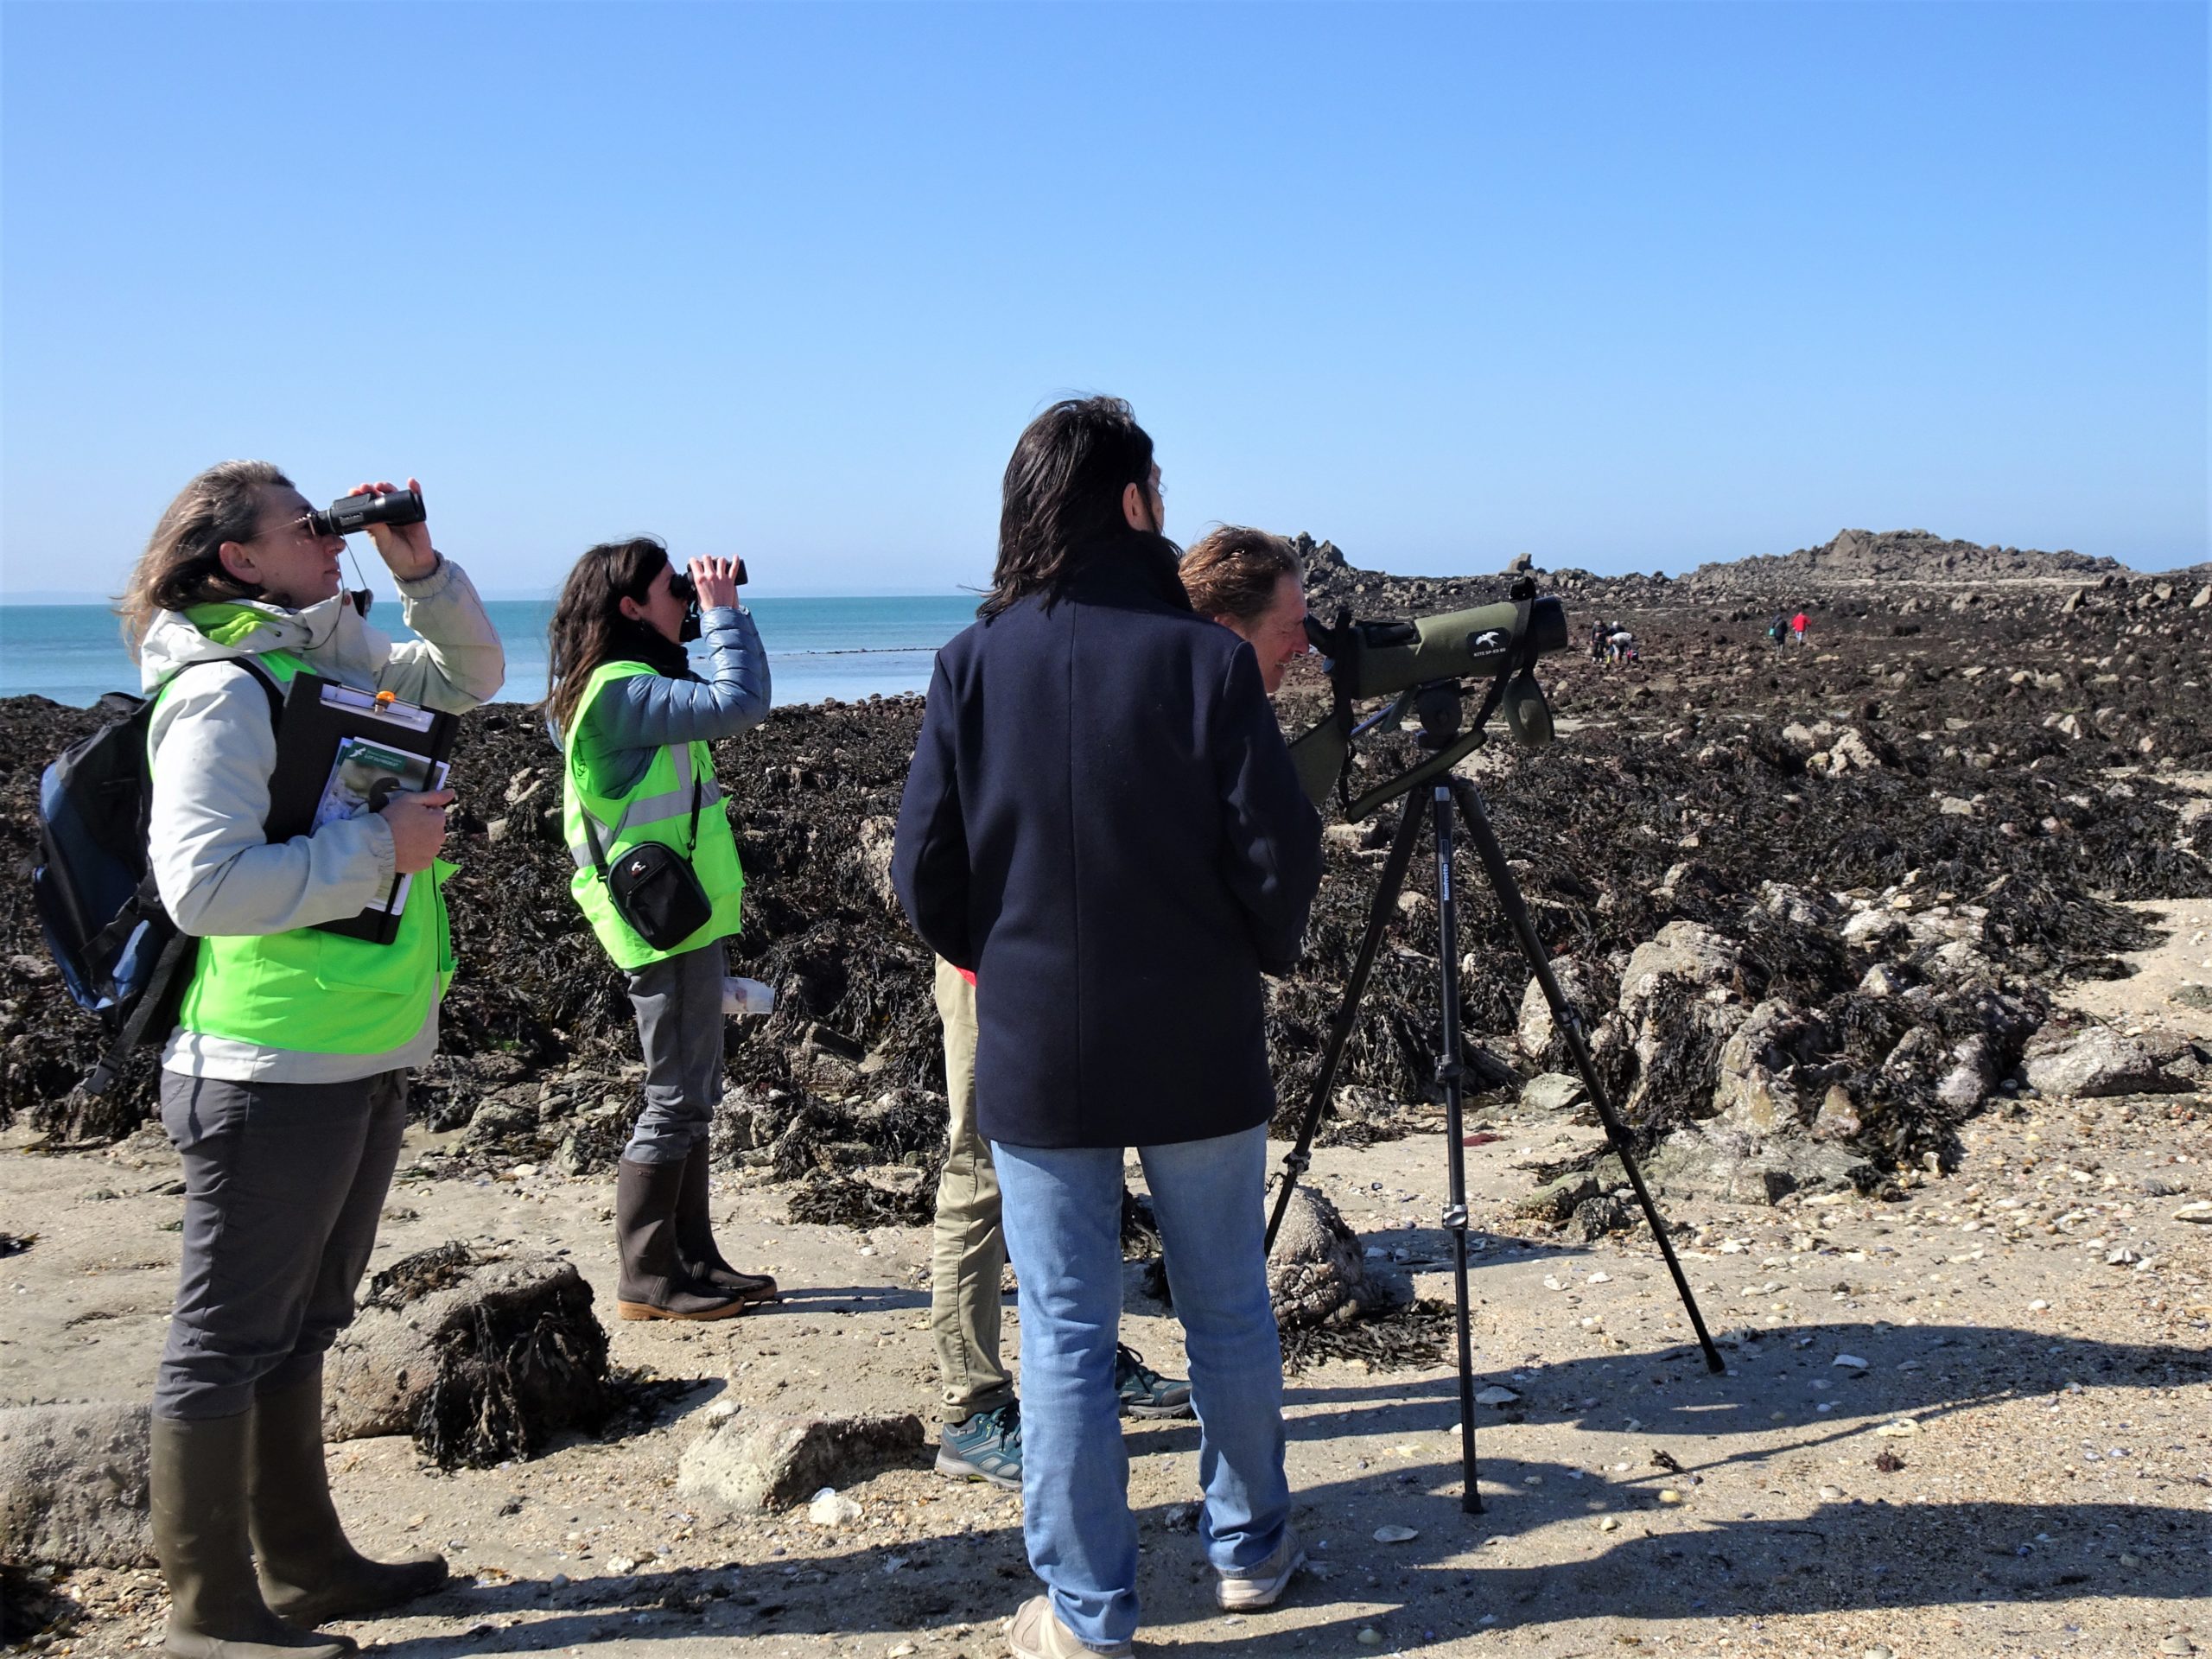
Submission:
{"label": "left olive-brown rubber boot of woman wearing the backpack", "polygon": [[347,1637],[301,1630],[270,1613],[246,1540],[246,1442],[234,1418],[155,1418],[148,1444],[153,1553],[168,1579],[170,1659],[343,1659]]}

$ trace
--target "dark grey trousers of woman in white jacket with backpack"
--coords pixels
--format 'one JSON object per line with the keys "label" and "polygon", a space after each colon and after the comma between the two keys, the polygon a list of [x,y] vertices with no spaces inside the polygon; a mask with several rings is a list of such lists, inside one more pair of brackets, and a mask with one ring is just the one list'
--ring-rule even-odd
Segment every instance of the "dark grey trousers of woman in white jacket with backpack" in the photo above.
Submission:
{"label": "dark grey trousers of woman in white jacket with backpack", "polygon": [[407,1073],[230,1084],[164,1071],[161,1128],[184,1155],[184,1263],[153,1409],[234,1418],[303,1383],[352,1323]]}

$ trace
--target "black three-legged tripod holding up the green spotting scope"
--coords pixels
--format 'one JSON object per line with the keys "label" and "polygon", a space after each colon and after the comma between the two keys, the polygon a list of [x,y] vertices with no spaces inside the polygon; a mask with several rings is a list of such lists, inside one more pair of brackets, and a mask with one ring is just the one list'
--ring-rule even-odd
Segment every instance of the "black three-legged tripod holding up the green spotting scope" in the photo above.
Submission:
{"label": "black three-legged tripod holding up the green spotting scope", "polygon": [[[1482,810],[1482,794],[1473,783],[1451,772],[1451,763],[1460,754],[1480,745],[1482,726],[1498,706],[1502,686],[1502,679],[1493,686],[1482,712],[1475,717],[1473,730],[1467,734],[1460,732],[1462,701],[1467,692],[1458,681],[1429,684],[1409,692],[1400,701],[1398,712],[1402,714],[1407,706],[1418,712],[1422,728],[1420,743],[1431,750],[1431,754],[1420,765],[1409,768],[1400,779],[1367,792],[1358,803],[1354,803],[1354,816],[1367,816],[1367,812],[1376,805],[1389,801],[1391,794],[1405,794],[1405,812],[1398,818],[1398,834],[1391,841],[1389,856],[1383,860],[1383,876],[1376,883],[1376,896],[1367,909],[1367,933],[1360,938],[1360,951],[1352,962],[1352,978],[1345,982],[1343,1002],[1336,1011],[1334,1024],[1329,1026],[1329,1040],[1321,1057],[1321,1073],[1314,1077],[1314,1093],[1307,1099],[1305,1117],[1298,1124],[1298,1141],[1283,1157],[1283,1181],[1274,1194],[1274,1212],[1267,1217],[1267,1248],[1272,1250],[1274,1234],[1283,1225],[1283,1212],[1290,1208],[1290,1194],[1298,1186],[1298,1177],[1305,1175],[1312,1164],[1314,1130],[1321,1126],[1321,1113],[1327,1110],[1329,1095],[1336,1088],[1336,1071],[1343,1064],[1345,1044],[1352,1040],[1352,1026],[1358,1022],[1360,998],[1367,993],[1367,978],[1374,971],[1376,951],[1383,945],[1383,931],[1398,907],[1398,891],[1405,887],[1405,872],[1413,860],[1413,847],[1420,841],[1422,823],[1427,818],[1433,825],[1436,836],[1436,925],[1438,962],[1442,967],[1440,991],[1444,1024],[1436,1062],[1436,1091],[1444,1102],[1444,1135],[1449,1146],[1444,1230],[1451,1232],[1451,1279],[1460,1340],[1460,1509],[1469,1515],[1482,1513],[1482,1493],[1475,1484],[1475,1367],[1467,1316],[1467,1152],[1460,1126],[1460,1095],[1467,1082],[1467,1068],[1460,1060],[1460,951],[1458,909],[1451,885],[1455,832],[1453,812],[1458,812],[1458,823],[1467,825],[1467,834],[1475,843],[1475,854],[1482,858],[1482,869],[1489,876],[1491,891],[1498,896],[1498,907],[1513,927],[1513,938],[1520,942],[1520,951],[1528,960],[1535,982],[1544,989],[1544,1002],[1551,1004],[1551,1018],[1575,1057],[1575,1071],[1582,1075],[1582,1086],[1590,1093],[1590,1104],[1597,1108],[1599,1121],[1606,1126],[1606,1141],[1610,1144],[1613,1155],[1621,1159],[1621,1168],[1628,1172],[1628,1183],[1635,1188],[1637,1203],[1644,1208],[1644,1219],[1650,1223],[1652,1237],[1659,1241],[1659,1254],[1666,1256],[1668,1272],[1674,1276],[1674,1290],[1681,1294],[1681,1305],[1690,1312],[1690,1325],[1697,1329],[1699,1347],[1705,1349],[1705,1369],[1714,1374],[1725,1369],[1719,1349],[1712,1345],[1712,1336],[1705,1332],[1705,1321],[1697,1312],[1697,1298],[1690,1294],[1690,1281],[1683,1279],[1681,1263],[1674,1259],[1674,1245],[1668,1241],[1666,1223],[1659,1219],[1659,1208],[1652,1203],[1650,1188],[1644,1186],[1644,1172],[1635,1161],[1635,1141],[1628,1135],[1626,1124],[1621,1124],[1619,1115],[1613,1110],[1613,1102],[1606,1097],[1606,1086],[1597,1077],[1597,1066],[1590,1064],[1590,1046],[1584,1037],[1582,1020],[1559,991],[1559,980],[1551,971],[1551,960],[1544,953],[1544,942],[1535,933],[1528,905],[1522,900],[1520,883],[1513,880],[1513,869],[1506,865],[1504,847],[1498,845],[1491,818]],[[1442,765],[1438,765],[1438,761],[1442,761]],[[1422,812],[1425,805],[1431,807],[1429,814]]]}

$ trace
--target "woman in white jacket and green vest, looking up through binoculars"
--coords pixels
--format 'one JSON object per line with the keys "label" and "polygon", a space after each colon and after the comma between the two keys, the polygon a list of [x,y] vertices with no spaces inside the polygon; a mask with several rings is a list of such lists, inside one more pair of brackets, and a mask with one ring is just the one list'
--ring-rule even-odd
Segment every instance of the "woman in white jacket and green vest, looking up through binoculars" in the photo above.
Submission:
{"label": "woman in white jacket and green vest, looking up through binoculars", "polygon": [[[389,491],[392,484],[361,484]],[[409,480],[414,489],[414,480]],[[394,796],[272,843],[270,686],[299,672],[465,710],[507,672],[500,637],[427,524],[369,529],[420,641],[394,646],[338,591],[345,542],[263,460],[170,502],[122,599],[155,697],[148,863],[199,938],[161,1053],[184,1157],[184,1261],[153,1398],[153,1537],[177,1659],[334,1659],[305,1626],[445,1584],[436,1555],[369,1562],[323,1469],[323,1354],[354,1316],[407,1126],[407,1068],[438,1048],[451,971],[438,891],[451,794]],[[414,874],[389,945],[316,922]]]}

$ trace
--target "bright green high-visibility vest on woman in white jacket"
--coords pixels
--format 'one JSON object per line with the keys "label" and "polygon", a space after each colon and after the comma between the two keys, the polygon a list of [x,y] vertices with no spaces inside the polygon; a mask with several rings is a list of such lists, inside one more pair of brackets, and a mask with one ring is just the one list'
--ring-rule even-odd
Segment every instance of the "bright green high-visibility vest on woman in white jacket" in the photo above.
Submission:
{"label": "bright green high-visibility vest on woman in white jacket", "polygon": [[[288,650],[265,650],[257,661],[279,686],[305,668]],[[440,891],[451,872],[440,858],[416,876],[389,945],[321,927],[201,938],[177,1024],[314,1055],[380,1055],[411,1042],[453,978]]]}

